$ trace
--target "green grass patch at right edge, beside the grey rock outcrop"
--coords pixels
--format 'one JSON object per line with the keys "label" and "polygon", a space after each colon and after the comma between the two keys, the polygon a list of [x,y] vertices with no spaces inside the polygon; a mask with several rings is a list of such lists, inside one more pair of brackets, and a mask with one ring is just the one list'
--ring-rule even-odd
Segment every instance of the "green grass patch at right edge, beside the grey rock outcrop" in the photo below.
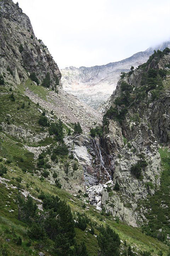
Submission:
{"label": "green grass patch at right edge, beside the grey rock outcrop", "polygon": [[160,148],[159,153],[162,160],[160,187],[145,204],[149,222],[144,230],[151,236],[157,235],[159,229],[162,229],[165,235],[170,234],[170,151],[168,148]]}

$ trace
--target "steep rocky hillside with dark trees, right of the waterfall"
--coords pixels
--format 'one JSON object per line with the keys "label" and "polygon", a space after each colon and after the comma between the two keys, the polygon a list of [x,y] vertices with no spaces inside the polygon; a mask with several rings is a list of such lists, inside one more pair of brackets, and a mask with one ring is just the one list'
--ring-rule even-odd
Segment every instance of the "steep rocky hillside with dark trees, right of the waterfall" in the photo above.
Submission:
{"label": "steep rocky hillside with dark trees, right of the waterfall", "polygon": [[105,105],[101,143],[113,166],[111,187],[117,192],[100,193],[102,206],[114,216],[143,226],[147,235],[168,244],[169,52],[158,50],[123,74]]}

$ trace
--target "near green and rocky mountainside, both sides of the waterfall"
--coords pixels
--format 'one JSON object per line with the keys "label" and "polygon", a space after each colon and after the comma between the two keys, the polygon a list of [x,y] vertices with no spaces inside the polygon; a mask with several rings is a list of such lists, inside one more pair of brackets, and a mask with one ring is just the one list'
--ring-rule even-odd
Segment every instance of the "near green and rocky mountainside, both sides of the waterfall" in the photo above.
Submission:
{"label": "near green and rocky mountainside, both sides of the waterfall", "polygon": [[169,49],[99,113],[0,1],[0,255],[168,255]]}

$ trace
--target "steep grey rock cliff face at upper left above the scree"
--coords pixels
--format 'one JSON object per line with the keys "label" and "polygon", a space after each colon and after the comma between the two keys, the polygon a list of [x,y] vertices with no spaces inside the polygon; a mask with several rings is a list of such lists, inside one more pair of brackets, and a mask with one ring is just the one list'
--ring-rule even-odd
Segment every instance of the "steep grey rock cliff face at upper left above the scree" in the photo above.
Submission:
{"label": "steep grey rock cliff face at upper left above the scree", "polygon": [[61,73],[49,50],[36,39],[28,16],[10,0],[0,1],[0,55],[0,73],[6,74],[5,81],[13,86],[33,72],[40,83],[47,72],[51,87],[56,77],[60,83]]}

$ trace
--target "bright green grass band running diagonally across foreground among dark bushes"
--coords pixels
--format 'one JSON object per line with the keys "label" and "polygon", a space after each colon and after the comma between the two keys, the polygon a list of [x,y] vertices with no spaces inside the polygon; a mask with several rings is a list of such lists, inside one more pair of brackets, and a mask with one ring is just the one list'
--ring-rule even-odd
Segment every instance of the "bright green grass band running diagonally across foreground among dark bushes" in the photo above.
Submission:
{"label": "bright green grass band running diagonally across foreground among dark bushes", "polygon": [[[127,244],[134,246],[134,250],[137,251],[137,248],[140,250],[151,250],[153,249],[154,252],[152,253],[153,255],[157,255],[160,250],[164,252],[166,255],[168,251],[168,246],[163,244],[162,242],[158,241],[157,239],[154,239],[150,236],[146,236],[145,234],[142,233],[141,229],[139,228],[133,228],[131,226],[128,226],[125,223],[116,223],[113,220],[112,216],[109,217],[104,217],[101,216],[99,212],[95,209],[95,207],[89,205],[89,209],[83,209],[83,202],[81,202],[80,199],[74,197],[73,195],[69,194],[68,192],[58,189],[57,187],[51,185],[48,180],[40,181],[40,179],[36,176],[32,176],[29,173],[24,173],[19,167],[15,167],[12,169],[15,170],[15,172],[11,173],[11,166],[9,166],[9,171],[7,172],[6,175],[4,175],[5,178],[9,179],[10,182],[7,182],[8,186],[10,184],[16,185],[16,177],[21,177],[22,178],[22,183],[21,186],[22,188],[26,189],[29,191],[34,197],[38,197],[38,192],[37,188],[44,191],[45,193],[51,193],[54,195],[58,195],[60,198],[65,199],[67,203],[70,205],[74,218],[76,218],[76,212],[85,212],[88,217],[91,218],[92,222],[96,222],[97,224],[103,224],[105,225],[108,223],[109,225],[112,226],[112,228],[115,229],[115,231],[120,235],[121,240],[126,240]],[[29,188],[26,188],[26,183],[29,184]],[[0,184],[0,209],[1,210],[1,218],[6,218],[6,221],[10,222],[11,225],[14,226],[15,232],[17,234],[21,234],[24,232],[24,230],[27,229],[27,226],[23,222],[19,222],[17,220],[17,206],[15,204],[15,195],[17,193],[16,189],[10,188],[8,190],[4,185]],[[12,192],[12,193],[11,193]],[[8,197],[10,195],[10,198]],[[9,202],[9,203],[6,203]],[[6,207],[7,204],[7,207]],[[9,210],[13,209],[14,212],[9,212]],[[101,218],[103,220],[101,220]],[[88,227],[90,228],[90,227]],[[88,230],[88,228],[86,230]],[[97,234],[98,231],[95,229],[95,233]],[[24,238],[24,235],[23,235]],[[5,242],[5,237],[0,235],[0,239],[2,242]],[[98,248],[98,243],[97,239],[94,235],[91,235],[86,231],[82,231],[78,228],[76,228],[76,239],[77,241],[85,241],[87,245],[87,250],[89,251],[91,256],[97,256],[97,248]],[[26,237],[27,240],[27,237]],[[13,244],[10,244],[13,246]],[[16,246],[16,245],[15,245]],[[23,245],[24,246],[24,245]],[[22,246],[22,248],[23,248]],[[15,247],[14,247],[15,248]],[[135,249],[136,248],[136,249]],[[16,250],[16,249],[14,249]],[[18,255],[23,255],[22,250],[21,252],[18,252]],[[27,251],[24,251],[25,255],[27,255]],[[17,254],[16,254],[17,255]],[[28,254],[29,255],[29,254]],[[48,255],[48,254],[46,254]]]}

